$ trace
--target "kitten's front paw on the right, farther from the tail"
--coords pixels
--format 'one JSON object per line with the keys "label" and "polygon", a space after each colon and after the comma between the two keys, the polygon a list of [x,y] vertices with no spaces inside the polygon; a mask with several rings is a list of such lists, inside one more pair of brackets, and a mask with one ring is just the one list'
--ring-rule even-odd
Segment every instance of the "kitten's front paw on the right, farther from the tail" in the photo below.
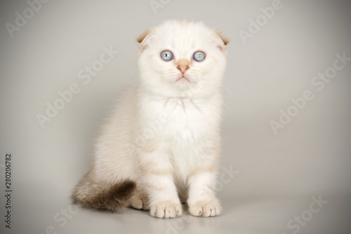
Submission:
{"label": "kitten's front paw on the right, farther from the tail", "polygon": [[208,200],[189,204],[189,212],[192,216],[213,217],[218,216],[222,211],[222,207],[218,200]]}

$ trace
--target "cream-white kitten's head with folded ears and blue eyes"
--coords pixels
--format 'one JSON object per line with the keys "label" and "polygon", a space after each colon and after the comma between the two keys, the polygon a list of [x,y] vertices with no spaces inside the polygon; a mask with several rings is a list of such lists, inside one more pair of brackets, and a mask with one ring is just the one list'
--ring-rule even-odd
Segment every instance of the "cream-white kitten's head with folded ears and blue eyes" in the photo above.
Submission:
{"label": "cream-white kitten's head with folded ears and blue eyes", "polygon": [[137,41],[143,88],[161,96],[208,96],[218,91],[228,41],[204,23],[168,20]]}

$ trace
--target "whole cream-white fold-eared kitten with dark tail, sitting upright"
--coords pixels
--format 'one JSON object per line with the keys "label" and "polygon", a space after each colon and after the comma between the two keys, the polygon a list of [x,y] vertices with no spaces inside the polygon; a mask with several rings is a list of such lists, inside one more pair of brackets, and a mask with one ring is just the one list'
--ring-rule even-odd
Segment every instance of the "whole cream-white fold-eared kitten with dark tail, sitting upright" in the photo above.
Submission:
{"label": "whole cream-white fold-eared kitten with dark tail, sitting upright", "polygon": [[218,216],[216,169],[228,40],[203,22],[168,20],[137,39],[138,82],[102,126],[91,169],[72,193],[82,207]]}

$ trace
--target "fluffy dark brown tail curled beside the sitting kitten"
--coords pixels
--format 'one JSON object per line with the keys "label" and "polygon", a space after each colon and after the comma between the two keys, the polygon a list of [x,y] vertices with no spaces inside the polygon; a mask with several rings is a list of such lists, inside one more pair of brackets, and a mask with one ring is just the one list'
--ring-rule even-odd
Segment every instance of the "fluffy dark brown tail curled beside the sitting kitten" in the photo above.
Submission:
{"label": "fluffy dark brown tail curled beside the sitting kitten", "polygon": [[113,185],[92,183],[86,175],[72,193],[73,204],[98,209],[105,212],[121,213],[130,205],[136,184],[133,181],[121,181]]}

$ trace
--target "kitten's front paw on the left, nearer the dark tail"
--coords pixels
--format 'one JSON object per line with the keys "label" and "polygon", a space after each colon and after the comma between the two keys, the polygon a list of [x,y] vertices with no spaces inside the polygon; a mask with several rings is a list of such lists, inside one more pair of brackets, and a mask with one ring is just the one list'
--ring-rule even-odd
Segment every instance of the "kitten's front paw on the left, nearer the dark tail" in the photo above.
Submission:
{"label": "kitten's front paw on the left, nearer the dark tail", "polygon": [[150,214],[155,218],[176,218],[181,216],[183,209],[181,204],[176,202],[159,202],[151,206]]}

